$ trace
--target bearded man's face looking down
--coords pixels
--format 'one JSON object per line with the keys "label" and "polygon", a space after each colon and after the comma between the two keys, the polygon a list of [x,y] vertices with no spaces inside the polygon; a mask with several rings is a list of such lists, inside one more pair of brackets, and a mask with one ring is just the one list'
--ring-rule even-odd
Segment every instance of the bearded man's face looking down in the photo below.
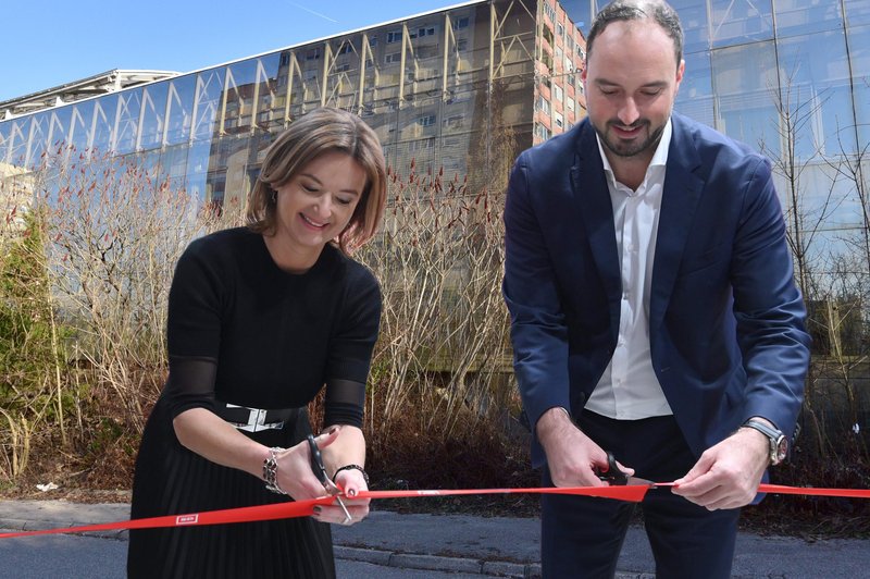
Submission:
{"label": "bearded man's face looking down", "polygon": [[652,159],[683,67],[673,40],[651,20],[614,22],[595,39],[582,78],[589,120],[611,164]]}

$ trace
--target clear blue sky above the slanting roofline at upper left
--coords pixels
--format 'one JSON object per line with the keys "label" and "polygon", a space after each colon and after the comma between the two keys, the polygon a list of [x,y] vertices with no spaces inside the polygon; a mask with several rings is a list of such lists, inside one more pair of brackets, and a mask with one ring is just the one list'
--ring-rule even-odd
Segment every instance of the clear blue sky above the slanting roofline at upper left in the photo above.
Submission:
{"label": "clear blue sky above the slanting roofline at upper left", "polygon": [[0,101],[112,69],[188,72],[462,0],[25,0],[0,20]]}

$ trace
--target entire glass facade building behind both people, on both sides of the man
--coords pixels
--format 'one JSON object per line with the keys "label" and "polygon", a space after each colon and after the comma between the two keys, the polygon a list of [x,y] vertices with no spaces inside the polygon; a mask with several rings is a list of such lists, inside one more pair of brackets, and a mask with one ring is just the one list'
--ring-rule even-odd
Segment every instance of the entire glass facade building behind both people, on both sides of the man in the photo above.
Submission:
{"label": "entire glass facade building behind both people, on both sides of the man", "polygon": [[[676,110],[773,160],[811,250],[866,231],[870,2],[671,3],[685,29]],[[273,137],[333,106],[375,128],[395,171],[413,161],[495,189],[517,152],[585,115],[583,33],[601,5],[467,2],[35,112],[0,103],[0,178],[64,143],[132,156],[216,205],[243,201]]]}

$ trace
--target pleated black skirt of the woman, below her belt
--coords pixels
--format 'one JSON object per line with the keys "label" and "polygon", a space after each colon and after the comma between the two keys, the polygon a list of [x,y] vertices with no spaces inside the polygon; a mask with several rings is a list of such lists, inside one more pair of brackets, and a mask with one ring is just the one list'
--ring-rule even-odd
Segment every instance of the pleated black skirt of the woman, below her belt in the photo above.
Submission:
{"label": "pleated black skirt of the woman, below her belt", "polygon": [[[245,434],[268,446],[291,446],[311,431],[299,412],[283,430]],[[133,482],[134,519],[274,504],[287,496],[265,490],[247,472],[222,467],[182,446],[161,401],[142,435]],[[130,578],[335,577],[330,526],[309,517],[130,530]]]}

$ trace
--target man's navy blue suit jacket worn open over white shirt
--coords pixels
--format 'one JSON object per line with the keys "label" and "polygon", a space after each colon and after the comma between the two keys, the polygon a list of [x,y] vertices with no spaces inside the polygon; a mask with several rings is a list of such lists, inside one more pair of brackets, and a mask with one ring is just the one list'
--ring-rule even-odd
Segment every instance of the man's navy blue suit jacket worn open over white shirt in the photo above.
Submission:
{"label": "man's navy blue suit jacket worn open over white shirt", "polygon": [[[749,417],[794,431],[809,361],[770,163],[672,115],[649,323],[652,367],[693,452]],[[616,229],[588,120],[520,155],[505,209],[505,299],[531,424],[582,411],[616,348]],[[545,457],[537,442],[533,463]]]}

